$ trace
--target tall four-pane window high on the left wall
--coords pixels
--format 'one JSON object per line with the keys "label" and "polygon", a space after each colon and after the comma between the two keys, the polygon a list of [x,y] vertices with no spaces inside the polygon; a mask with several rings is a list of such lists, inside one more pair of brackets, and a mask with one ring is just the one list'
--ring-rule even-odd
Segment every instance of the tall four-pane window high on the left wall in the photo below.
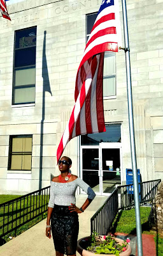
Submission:
{"label": "tall four-pane window high on the left wall", "polygon": [[36,27],[15,31],[12,104],[35,102]]}

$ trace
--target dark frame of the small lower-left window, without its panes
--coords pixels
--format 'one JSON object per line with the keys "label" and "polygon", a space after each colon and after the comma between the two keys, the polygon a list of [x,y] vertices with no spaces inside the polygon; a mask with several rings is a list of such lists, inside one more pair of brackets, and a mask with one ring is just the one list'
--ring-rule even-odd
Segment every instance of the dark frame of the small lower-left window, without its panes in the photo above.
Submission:
{"label": "dark frame of the small lower-left window, without its panes", "polygon": [[[8,149],[8,171],[18,171],[18,172],[29,171],[29,172],[31,172],[31,170],[32,170],[32,148],[31,148],[31,152],[25,152],[26,154],[31,155],[31,169],[28,169],[28,170],[26,170],[26,169],[11,169],[11,157],[12,157],[12,154],[14,153],[14,152],[12,152],[13,138],[32,138],[32,134],[10,135],[9,149]],[[23,153],[23,151],[17,152],[17,153]]]}

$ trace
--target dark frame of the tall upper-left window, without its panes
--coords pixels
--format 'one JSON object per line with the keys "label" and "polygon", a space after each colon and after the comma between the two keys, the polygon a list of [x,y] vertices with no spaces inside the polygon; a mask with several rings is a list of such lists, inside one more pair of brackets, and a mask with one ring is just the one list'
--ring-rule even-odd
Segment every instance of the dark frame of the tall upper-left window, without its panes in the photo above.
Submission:
{"label": "dark frame of the tall upper-left window, without its panes", "polygon": [[[22,49],[27,49],[27,48],[31,48],[31,47],[35,47],[36,48],[36,45],[16,48],[17,32],[18,31],[23,31],[23,30],[26,30],[26,29],[32,29],[32,28],[36,28],[36,39],[37,39],[37,26],[32,26],[32,27],[29,27],[29,28],[15,30],[14,49],[13,49],[13,86],[12,86],[12,100],[11,100],[11,105],[12,106],[18,106],[18,105],[24,106],[25,104],[30,104],[30,105],[32,104],[33,105],[33,104],[35,104],[35,101],[36,101],[36,55],[35,55],[35,65],[27,65],[27,66],[22,66],[22,67],[15,67],[16,51],[18,51],[18,50],[21,51]],[[36,40],[36,42],[37,42],[37,40]],[[35,68],[35,83],[34,84],[25,84],[25,85],[15,86],[15,73],[16,73],[16,71],[17,70],[21,70],[21,69],[26,69],[26,68]],[[15,91],[17,89],[23,89],[23,88],[35,88],[34,101],[15,103]]]}

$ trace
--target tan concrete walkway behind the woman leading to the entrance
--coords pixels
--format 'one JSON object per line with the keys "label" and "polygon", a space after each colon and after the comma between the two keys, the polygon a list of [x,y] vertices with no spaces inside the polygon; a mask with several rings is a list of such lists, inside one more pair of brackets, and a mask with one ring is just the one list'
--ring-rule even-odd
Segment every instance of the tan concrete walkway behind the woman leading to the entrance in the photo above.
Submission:
{"label": "tan concrete walkway behind the woman leading to the entrance", "polygon": [[[87,195],[77,195],[76,205],[81,207]],[[79,214],[80,228],[78,239],[90,236],[90,218],[103,205],[106,196],[96,196],[85,212]],[[34,227],[15,237],[10,242],[0,247],[1,256],[54,256],[53,239],[45,236],[46,219]],[[79,256],[79,253],[76,253]]]}

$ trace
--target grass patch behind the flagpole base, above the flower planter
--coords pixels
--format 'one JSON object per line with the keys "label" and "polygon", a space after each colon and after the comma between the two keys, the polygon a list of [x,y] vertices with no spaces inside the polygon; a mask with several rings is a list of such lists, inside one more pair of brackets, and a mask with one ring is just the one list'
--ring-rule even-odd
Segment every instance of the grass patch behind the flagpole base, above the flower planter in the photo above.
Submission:
{"label": "grass patch behind the flagpole base, above the flower planter", "polygon": [[[141,214],[141,228],[143,234],[155,234],[154,231],[148,227],[148,216],[150,214],[150,207],[140,207]],[[127,234],[136,234],[136,217],[135,209],[121,211],[113,223],[113,231]]]}

